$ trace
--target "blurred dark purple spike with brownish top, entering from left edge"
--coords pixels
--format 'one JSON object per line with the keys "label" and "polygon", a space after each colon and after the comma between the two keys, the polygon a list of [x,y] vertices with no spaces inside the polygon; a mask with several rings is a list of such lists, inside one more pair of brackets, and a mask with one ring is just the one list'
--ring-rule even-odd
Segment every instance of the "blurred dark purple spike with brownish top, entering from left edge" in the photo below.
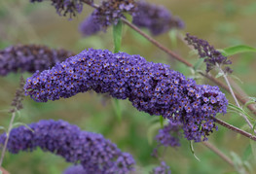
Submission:
{"label": "blurred dark purple spike with brownish top, entering from left edge", "polygon": [[11,72],[27,71],[35,73],[53,67],[73,55],[65,50],[49,49],[39,45],[17,45],[0,51],[0,76]]}

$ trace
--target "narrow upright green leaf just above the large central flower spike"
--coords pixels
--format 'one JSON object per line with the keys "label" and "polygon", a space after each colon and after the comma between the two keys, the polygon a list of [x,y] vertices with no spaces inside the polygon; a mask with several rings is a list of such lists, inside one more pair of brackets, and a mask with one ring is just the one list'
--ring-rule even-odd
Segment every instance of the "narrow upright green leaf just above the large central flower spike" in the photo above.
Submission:
{"label": "narrow upright green leaf just above the large central flower spike", "polygon": [[119,52],[122,43],[122,21],[113,26],[114,52]]}

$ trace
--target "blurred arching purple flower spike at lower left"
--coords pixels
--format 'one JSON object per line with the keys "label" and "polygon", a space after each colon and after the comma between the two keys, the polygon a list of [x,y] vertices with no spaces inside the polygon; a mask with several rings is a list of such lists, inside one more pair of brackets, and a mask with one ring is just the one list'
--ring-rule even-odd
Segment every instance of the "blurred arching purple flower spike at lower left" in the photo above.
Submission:
{"label": "blurred arching purple flower spike at lower left", "polygon": [[[7,149],[12,154],[31,152],[36,148],[78,163],[89,173],[128,173],[134,160],[122,153],[115,144],[102,135],[81,131],[76,125],[64,121],[40,121],[12,129]],[[6,134],[0,136],[3,144]]]}

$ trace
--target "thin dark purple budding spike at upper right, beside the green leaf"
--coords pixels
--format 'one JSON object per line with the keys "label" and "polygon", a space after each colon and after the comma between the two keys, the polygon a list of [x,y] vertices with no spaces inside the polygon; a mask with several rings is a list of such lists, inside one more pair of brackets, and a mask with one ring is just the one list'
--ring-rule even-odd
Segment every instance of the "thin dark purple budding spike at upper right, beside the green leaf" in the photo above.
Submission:
{"label": "thin dark purple budding spike at upper right, beside the green leaf", "polygon": [[[188,44],[192,45],[194,49],[199,52],[201,58],[204,58],[204,62],[206,63],[206,72],[212,70],[216,65],[222,66],[232,64],[231,60],[222,55],[221,52],[216,51],[207,41],[199,39],[196,36],[192,36],[189,33],[187,33],[185,40],[187,40]],[[226,66],[224,72],[232,73],[233,70],[229,66]]]}

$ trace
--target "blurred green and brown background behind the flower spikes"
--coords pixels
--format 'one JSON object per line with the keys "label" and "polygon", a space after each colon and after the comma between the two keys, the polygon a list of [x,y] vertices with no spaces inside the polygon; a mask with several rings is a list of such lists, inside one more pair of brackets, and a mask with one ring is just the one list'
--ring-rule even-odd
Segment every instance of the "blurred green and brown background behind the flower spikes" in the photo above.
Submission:
{"label": "blurred green and brown background behind the flower spikes", "polygon": [[[189,32],[197,35],[217,49],[238,44],[256,48],[256,2],[253,0],[151,0],[149,2],[164,5],[173,15],[185,21],[186,28],[180,31],[180,34]],[[55,14],[55,8],[51,6],[50,1],[31,4],[29,0],[0,0],[0,49],[17,44],[44,44],[77,53],[88,48],[113,51],[111,27],[106,33],[101,32],[88,38],[81,37],[78,31],[79,23],[91,12],[90,7],[84,6],[82,14],[68,20],[68,17],[59,17]],[[192,76],[185,65],[172,60],[165,52],[158,50],[133,30],[126,28],[125,31],[122,52],[140,54],[149,61],[170,64],[172,69],[186,76]],[[180,41],[173,44],[168,33],[156,39],[191,63],[197,62],[197,55]],[[234,75],[242,83],[235,81],[250,96],[255,96],[256,54],[240,53],[230,58],[233,61]],[[19,76],[19,74],[10,74],[7,77],[0,77],[0,110],[10,108],[18,87]],[[25,73],[24,76],[29,77],[30,74]],[[211,84],[204,79],[200,79],[198,83]],[[228,97],[231,103],[235,103],[229,95]],[[80,93],[69,99],[48,103],[36,103],[26,97],[23,104],[24,109],[21,110],[21,117],[17,122],[61,119],[77,124],[84,130],[101,133],[116,143],[120,149],[133,155],[138,165],[136,173],[148,173],[159,163],[151,157],[156,143],[149,144],[147,138],[154,117],[136,111],[127,100],[120,101],[122,121],[118,120],[113,99],[94,92]],[[244,124],[235,114],[218,118],[239,127]],[[0,113],[0,125],[7,126],[10,119],[9,114]],[[246,138],[219,126],[219,131],[210,136],[209,142],[237,163],[239,160],[248,161],[256,173],[256,158],[253,158],[250,142]],[[172,173],[238,173],[235,168],[203,145],[194,144],[195,153],[201,159],[198,161],[190,151],[189,142],[182,139],[181,144],[180,148],[168,148],[165,152],[165,161]],[[7,153],[3,164],[12,174],[58,174],[69,165],[61,157],[43,153],[41,150],[18,155]]]}

